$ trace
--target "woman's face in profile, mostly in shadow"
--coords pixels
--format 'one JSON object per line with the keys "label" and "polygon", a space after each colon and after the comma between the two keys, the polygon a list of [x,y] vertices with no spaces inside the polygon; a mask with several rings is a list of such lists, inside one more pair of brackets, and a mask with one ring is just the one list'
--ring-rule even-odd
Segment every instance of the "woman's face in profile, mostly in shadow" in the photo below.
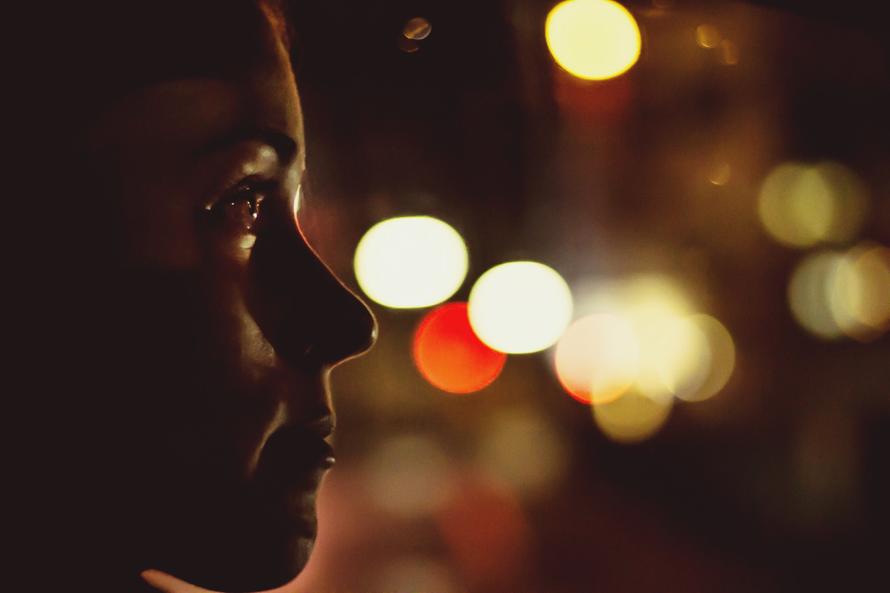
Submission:
{"label": "woman's face in profile, mostly in shadow", "polygon": [[210,589],[303,568],[333,462],[328,371],[375,332],[297,226],[299,97],[271,27],[265,44],[224,79],[127,95],[85,136],[110,238],[78,495],[128,570]]}

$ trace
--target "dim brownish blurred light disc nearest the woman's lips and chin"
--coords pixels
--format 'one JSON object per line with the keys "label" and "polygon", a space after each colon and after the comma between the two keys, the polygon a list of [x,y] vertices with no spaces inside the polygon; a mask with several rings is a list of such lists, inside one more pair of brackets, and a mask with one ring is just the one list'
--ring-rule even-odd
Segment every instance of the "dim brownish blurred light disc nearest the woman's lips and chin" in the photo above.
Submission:
{"label": "dim brownish blurred light disc nearest the woman's lips and chin", "polygon": [[371,500],[401,517],[428,516],[454,493],[451,461],[432,437],[387,438],[371,453],[367,471]]}

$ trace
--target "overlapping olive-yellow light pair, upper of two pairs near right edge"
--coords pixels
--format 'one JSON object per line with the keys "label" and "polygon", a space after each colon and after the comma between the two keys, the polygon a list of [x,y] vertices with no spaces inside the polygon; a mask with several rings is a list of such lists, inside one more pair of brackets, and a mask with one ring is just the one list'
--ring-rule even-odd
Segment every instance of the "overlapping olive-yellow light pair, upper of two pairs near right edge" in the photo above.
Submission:
{"label": "overlapping olive-yellow light pair, upper of two pairs near right edge", "polygon": [[841,244],[862,227],[868,193],[843,164],[789,162],[766,177],[757,206],[764,228],[781,244]]}

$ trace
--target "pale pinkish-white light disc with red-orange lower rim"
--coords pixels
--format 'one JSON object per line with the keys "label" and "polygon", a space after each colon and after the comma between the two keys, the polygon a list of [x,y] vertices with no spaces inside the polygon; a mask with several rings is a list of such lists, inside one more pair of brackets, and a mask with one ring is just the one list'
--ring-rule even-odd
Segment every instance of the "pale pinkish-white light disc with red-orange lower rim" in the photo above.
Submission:
{"label": "pale pinkish-white light disc with red-orange lower rim", "polygon": [[619,397],[634,383],[640,346],[631,325],[604,313],[581,317],[556,345],[556,375],[572,397],[601,404]]}

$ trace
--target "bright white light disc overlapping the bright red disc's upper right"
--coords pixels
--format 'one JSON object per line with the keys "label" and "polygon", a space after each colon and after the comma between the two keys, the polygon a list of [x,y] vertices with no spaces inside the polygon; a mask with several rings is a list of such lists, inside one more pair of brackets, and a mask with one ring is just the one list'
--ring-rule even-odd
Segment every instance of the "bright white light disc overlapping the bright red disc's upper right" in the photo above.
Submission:
{"label": "bright white light disc overlapping the bright red disc's upper right", "polygon": [[511,261],[480,276],[470,292],[470,324],[501,352],[537,352],[559,340],[571,319],[571,292],[553,268]]}

